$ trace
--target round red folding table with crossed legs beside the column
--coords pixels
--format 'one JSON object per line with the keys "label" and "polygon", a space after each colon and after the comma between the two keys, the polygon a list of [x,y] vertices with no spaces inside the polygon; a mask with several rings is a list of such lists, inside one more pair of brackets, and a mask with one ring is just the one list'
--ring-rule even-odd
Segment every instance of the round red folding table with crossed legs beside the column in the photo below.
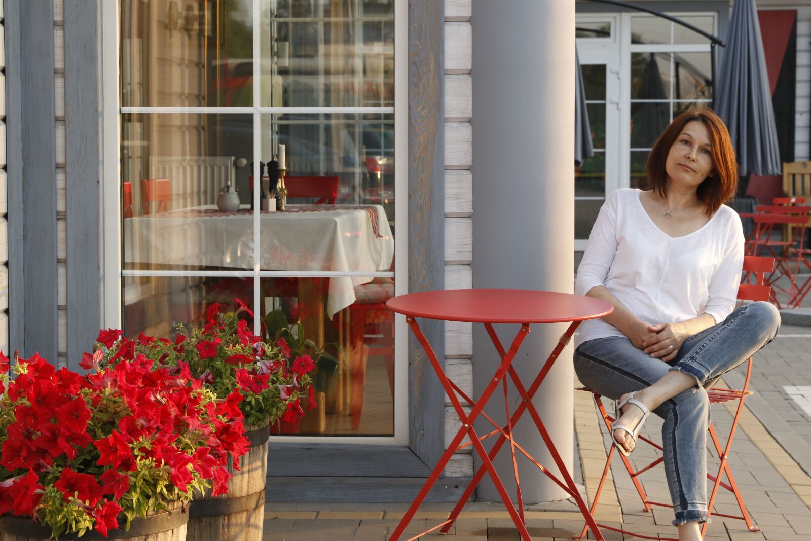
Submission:
{"label": "round red folding table with crossed legs beside the column", "polygon": [[[613,310],[611,304],[599,300],[598,298],[582,297],[580,295],[565,293],[554,293],[551,291],[441,290],[401,295],[399,297],[389,299],[386,305],[393,311],[405,314],[405,321],[410,325],[411,330],[414,332],[414,336],[417,337],[417,340],[423,346],[428,360],[431,362],[431,366],[434,368],[434,371],[436,371],[436,375],[439,376],[440,382],[442,383],[445,392],[448,393],[448,397],[453,404],[453,408],[456,410],[459,419],[461,420],[461,428],[459,429],[459,432],[457,432],[457,435],[453,438],[451,444],[448,445],[448,449],[443,453],[442,457],[440,458],[440,462],[437,463],[436,467],[431,472],[431,476],[423,485],[423,488],[414,499],[414,502],[410,505],[408,511],[405,512],[405,515],[402,517],[397,529],[394,530],[392,537],[389,538],[390,541],[397,541],[400,539],[405,527],[408,526],[411,518],[414,517],[414,513],[416,513],[419,506],[423,503],[423,500],[425,500],[428,492],[431,491],[431,487],[433,487],[436,480],[439,479],[440,474],[442,474],[442,470],[444,470],[445,465],[448,464],[448,461],[450,460],[451,456],[453,456],[453,453],[462,447],[466,447],[467,445],[474,446],[474,449],[476,449],[476,452],[482,459],[483,467],[479,468],[479,470],[474,474],[474,478],[471,480],[465,493],[461,496],[461,499],[457,503],[456,507],[454,507],[453,511],[451,511],[450,515],[448,516],[448,520],[440,522],[439,525],[434,526],[431,528],[431,530],[427,530],[419,535],[415,535],[408,541],[418,539],[421,535],[426,535],[427,533],[440,528],[442,529],[443,533],[448,533],[448,530],[450,530],[453,522],[458,517],[461,509],[473,494],[473,491],[478,483],[482,480],[485,473],[490,475],[492,482],[496,485],[496,490],[499,492],[501,499],[504,500],[504,505],[506,506],[510,517],[513,518],[513,522],[515,522],[515,526],[518,532],[521,534],[521,539],[523,539],[523,541],[531,541],[530,534],[526,530],[526,522],[524,520],[523,501],[521,499],[521,483],[519,483],[518,479],[516,453],[520,453],[528,458],[530,462],[533,462],[535,466],[538,466],[539,470],[546,474],[547,477],[549,477],[554,483],[567,492],[569,496],[573,497],[573,499],[577,502],[577,506],[580,508],[581,513],[583,513],[583,517],[586,519],[586,524],[594,533],[594,538],[598,541],[602,541],[603,535],[600,533],[596,522],[594,522],[594,517],[591,516],[586,501],[584,501],[580,496],[580,492],[578,492],[577,487],[574,484],[572,475],[569,474],[569,471],[566,469],[563,459],[560,457],[560,453],[557,452],[554,442],[551,440],[546,427],[543,425],[543,421],[541,420],[538,410],[536,410],[533,406],[532,398],[543,383],[543,379],[547,376],[547,373],[551,369],[552,365],[555,363],[556,359],[558,359],[560,351],[563,350],[564,346],[569,343],[569,340],[572,338],[575,329],[581,323],[581,321],[607,316]],[[448,380],[448,376],[445,374],[440,361],[436,358],[436,354],[431,348],[431,344],[428,343],[426,337],[423,335],[423,332],[420,330],[419,325],[417,324],[417,320],[415,318],[418,317],[428,320],[466,321],[484,324],[484,327],[487,329],[487,334],[490,336],[493,345],[496,346],[496,351],[500,355],[501,363],[496,369],[496,373],[487,384],[487,387],[483,390],[481,396],[478,397],[478,401],[474,401],[472,397],[469,397],[466,393],[459,389],[457,384],[454,384],[453,381]],[[513,367],[513,359],[517,354],[518,348],[521,346],[521,342],[524,341],[526,335],[530,333],[530,324],[543,323],[570,324],[569,328],[566,329],[566,332],[558,339],[554,350],[552,350],[546,362],[543,363],[543,367],[541,367],[538,376],[535,377],[532,384],[530,384],[530,387],[527,389],[525,388],[524,384],[521,383],[521,379],[518,377],[517,372]],[[501,341],[496,336],[496,331],[493,328],[493,324],[520,325],[518,333],[509,350],[504,350],[504,346],[502,346]],[[509,403],[507,400],[507,376],[509,377],[509,380],[513,381],[513,385],[515,385],[517,392],[521,395],[521,398],[523,398],[515,411],[512,413],[509,410]],[[487,401],[490,399],[491,395],[499,384],[502,384],[504,387],[504,407],[507,411],[507,424],[504,426],[496,424],[496,422],[483,411],[484,406],[487,404]],[[459,400],[460,397],[467,401],[467,403],[473,408],[473,410],[470,411],[470,414],[467,414],[462,408],[461,401]],[[529,411],[530,416],[534,421],[534,425],[538,428],[540,436],[542,437],[544,444],[546,444],[547,449],[549,449],[552,460],[554,460],[557,466],[560,477],[563,479],[558,479],[555,474],[552,474],[549,470],[547,470],[546,467],[542,466],[537,460],[531,457],[530,453],[527,453],[526,450],[521,447],[521,444],[519,444],[513,438],[513,427],[516,425],[518,420],[521,419],[521,414],[523,414],[525,411]],[[487,421],[490,422],[493,427],[495,427],[495,430],[488,432],[483,436],[478,436],[474,430],[474,422],[476,419],[478,419],[479,415],[481,415],[484,419],[487,419]],[[496,442],[493,444],[490,452],[488,453],[487,450],[484,449],[482,440],[496,435],[498,435]],[[470,443],[461,444],[461,441],[465,438],[465,436],[470,436]],[[513,457],[513,473],[515,474],[517,484],[517,505],[513,505],[513,500],[510,499],[510,496],[504,488],[504,483],[501,483],[501,479],[496,473],[496,469],[493,467],[491,462],[493,457],[496,456],[501,447],[507,441],[509,442],[510,453]]]}

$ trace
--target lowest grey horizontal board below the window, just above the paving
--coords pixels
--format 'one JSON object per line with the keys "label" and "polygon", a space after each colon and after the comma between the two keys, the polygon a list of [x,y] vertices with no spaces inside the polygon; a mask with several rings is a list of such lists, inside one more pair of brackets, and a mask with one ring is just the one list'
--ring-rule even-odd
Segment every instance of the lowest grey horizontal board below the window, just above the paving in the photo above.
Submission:
{"label": "lowest grey horizontal board below the window, just above the paving", "polygon": [[[272,451],[271,451],[272,453]],[[361,504],[373,502],[410,503],[427,478],[421,477],[268,477],[266,502],[289,502],[290,487],[296,501]],[[438,482],[426,502],[450,502],[461,498],[470,478]],[[268,508],[269,509],[269,508]],[[315,539],[315,538],[314,538]]]}

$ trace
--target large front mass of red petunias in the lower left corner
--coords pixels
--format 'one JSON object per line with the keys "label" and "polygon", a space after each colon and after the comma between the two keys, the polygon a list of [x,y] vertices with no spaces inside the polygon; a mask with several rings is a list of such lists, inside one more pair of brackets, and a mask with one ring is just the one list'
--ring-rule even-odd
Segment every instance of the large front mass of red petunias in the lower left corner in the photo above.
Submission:
{"label": "large front mass of red petunias in the lower left corner", "polygon": [[0,514],[54,536],[106,536],[208,482],[225,493],[229,455],[238,466],[247,451],[242,395],[218,398],[186,363],[135,354],[79,375],[35,354],[11,370],[0,354]]}

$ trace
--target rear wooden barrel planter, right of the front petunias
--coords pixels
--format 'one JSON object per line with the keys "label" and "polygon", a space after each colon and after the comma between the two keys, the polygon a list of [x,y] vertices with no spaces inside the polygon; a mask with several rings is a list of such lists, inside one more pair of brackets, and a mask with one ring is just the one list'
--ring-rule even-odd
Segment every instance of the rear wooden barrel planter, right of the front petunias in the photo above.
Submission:
{"label": "rear wooden barrel planter, right of the front petunias", "polygon": [[[211,489],[195,493],[189,506],[189,541],[261,541],[264,485],[268,473],[268,425],[248,427],[251,449],[239,457],[239,471],[229,458],[228,494],[212,498]],[[2,540],[0,540],[2,541]]]}

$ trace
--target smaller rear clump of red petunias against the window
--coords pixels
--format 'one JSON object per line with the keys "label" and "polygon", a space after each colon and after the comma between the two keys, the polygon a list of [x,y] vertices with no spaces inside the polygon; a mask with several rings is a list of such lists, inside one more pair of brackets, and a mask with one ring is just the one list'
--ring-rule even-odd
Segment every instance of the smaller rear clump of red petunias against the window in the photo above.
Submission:
{"label": "smaller rear clump of red petunias against the window", "polygon": [[266,343],[255,335],[241,315],[253,316],[242,301],[234,299],[234,311],[222,311],[219,303],[208,307],[207,323],[188,331],[178,328],[174,341],[145,336],[135,340],[122,331],[102,330],[94,354],[85,354],[86,368],[113,366],[141,354],[154,359],[153,368],[188,367],[204,388],[217,397],[242,397],[239,408],[246,425],[261,426],[284,418],[294,422],[304,411],[301,400],[315,407],[310,373],[315,363],[307,355],[291,358],[284,339]]}

